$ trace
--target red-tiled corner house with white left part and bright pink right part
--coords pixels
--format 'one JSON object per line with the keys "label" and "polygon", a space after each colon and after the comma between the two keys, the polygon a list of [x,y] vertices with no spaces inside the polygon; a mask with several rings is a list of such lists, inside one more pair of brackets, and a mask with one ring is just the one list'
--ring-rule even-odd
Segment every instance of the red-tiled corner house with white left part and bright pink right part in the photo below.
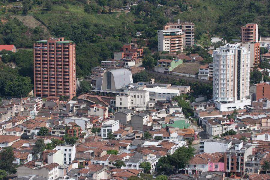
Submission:
{"label": "red-tiled corner house with white left part and bright pink right part", "polygon": [[195,155],[186,164],[186,174],[193,175],[202,171],[224,171],[224,157],[222,153],[201,153]]}

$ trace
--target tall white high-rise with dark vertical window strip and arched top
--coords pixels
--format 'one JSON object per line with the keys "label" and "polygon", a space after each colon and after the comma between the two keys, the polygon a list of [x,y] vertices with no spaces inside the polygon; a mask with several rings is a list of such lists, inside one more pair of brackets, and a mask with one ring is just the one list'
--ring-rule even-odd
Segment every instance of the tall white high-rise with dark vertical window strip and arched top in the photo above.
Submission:
{"label": "tall white high-rise with dark vertical window strip and arched top", "polygon": [[250,51],[226,44],[213,51],[213,100],[220,111],[251,104],[249,96]]}

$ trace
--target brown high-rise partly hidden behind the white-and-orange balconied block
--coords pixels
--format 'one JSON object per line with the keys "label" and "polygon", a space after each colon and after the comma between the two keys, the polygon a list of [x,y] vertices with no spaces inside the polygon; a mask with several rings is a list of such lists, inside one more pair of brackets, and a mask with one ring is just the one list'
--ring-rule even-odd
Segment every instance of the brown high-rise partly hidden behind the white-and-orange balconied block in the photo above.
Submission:
{"label": "brown high-rise partly hidden behind the white-and-orange balconied block", "polygon": [[168,22],[163,29],[182,29],[185,34],[184,47],[192,47],[195,43],[195,24],[193,22],[180,22],[180,19],[177,19],[177,23]]}

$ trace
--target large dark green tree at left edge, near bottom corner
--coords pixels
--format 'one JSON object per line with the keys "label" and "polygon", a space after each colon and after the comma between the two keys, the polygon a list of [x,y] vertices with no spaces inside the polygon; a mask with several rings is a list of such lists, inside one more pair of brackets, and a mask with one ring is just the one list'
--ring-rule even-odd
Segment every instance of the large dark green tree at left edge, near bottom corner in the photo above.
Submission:
{"label": "large dark green tree at left edge, near bottom corner", "polygon": [[[14,161],[14,153],[13,148],[4,147],[0,152],[0,170],[5,170],[7,174],[14,174],[17,172],[16,165],[13,164]],[[4,172],[1,172],[2,176]]]}

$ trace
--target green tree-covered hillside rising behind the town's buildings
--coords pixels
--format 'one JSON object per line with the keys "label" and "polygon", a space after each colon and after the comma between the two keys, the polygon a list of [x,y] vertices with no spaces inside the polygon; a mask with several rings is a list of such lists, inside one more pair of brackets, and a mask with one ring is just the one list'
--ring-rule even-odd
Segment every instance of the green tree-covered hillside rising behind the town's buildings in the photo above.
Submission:
{"label": "green tree-covered hillside rising behind the town's buildings", "polygon": [[[0,0],[0,44],[30,49],[35,41],[50,36],[72,40],[76,43],[77,77],[90,75],[91,67],[113,58],[113,52],[136,38],[133,36],[136,32],[142,32],[140,46],[145,46],[143,38],[149,39],[146,60],[155,63],[158,55],[153,57],[150,52],[157,46],[157,30],[177,19],[195,23],[195,41],[203,47],[211,44],[213,36],[223,37],[228,42],[232,38],[239,39],[240,27],[251,22],[259,25],[259,36],[270,35],[268,0],[148,0],[131,6],[130,12],[121,10],[130,0],[13,1]],[[197,50],[205,54],[202,49]],[[31,54],[32,50],[21,53]],[[26,64],[17,64],[13,70],[33,81],[33,56],[22,56],[19,60],[5,58],[3,62],[16,61]],[[27,73],[22,68],[28,68]],[[7,94],[1,86],[0,93]]]}

